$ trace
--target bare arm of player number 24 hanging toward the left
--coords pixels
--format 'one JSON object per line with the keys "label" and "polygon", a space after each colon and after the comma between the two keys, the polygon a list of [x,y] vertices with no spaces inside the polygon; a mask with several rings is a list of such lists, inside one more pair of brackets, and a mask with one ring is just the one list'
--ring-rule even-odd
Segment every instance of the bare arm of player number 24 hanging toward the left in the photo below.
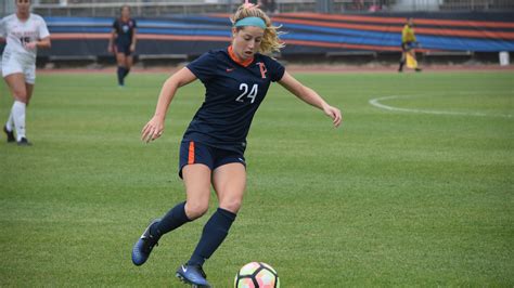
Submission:
{"label": "bare arm of player number 24 hanging toward the left", "polygon": [[180,87],[189,84],[194,80],[196,80],[196,76],[184,67],[171,75],[166,82],[164,82],[158,96],[157,107],[155,108],[155,115],[141,131],[142,141],[149,143],[163,134],[166,113],[168,112],[171,100],[174,100],[175,93],[177,93]]}

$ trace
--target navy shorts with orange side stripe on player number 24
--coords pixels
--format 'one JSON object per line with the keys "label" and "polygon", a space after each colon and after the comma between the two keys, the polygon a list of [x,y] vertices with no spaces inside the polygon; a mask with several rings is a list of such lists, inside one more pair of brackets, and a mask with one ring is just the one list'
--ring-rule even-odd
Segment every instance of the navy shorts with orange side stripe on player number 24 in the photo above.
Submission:
{"label": "navy shorts with orange side stripe on player number 24", "polygon": [[182,178],[182,169],[187,165],[203,163],[210,171],[226,163],[242,163],[246,167],[243,154],[220,149],[203,143],[184,140],[180,144],[179,176]]}

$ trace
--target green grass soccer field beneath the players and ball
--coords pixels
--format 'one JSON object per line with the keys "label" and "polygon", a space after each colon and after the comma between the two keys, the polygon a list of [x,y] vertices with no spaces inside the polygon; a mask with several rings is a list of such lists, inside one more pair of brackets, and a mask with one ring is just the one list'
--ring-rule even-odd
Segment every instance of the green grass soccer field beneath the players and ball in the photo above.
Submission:
{"label": "green grass soccer field beneath the players and ball", "polygon": [[[514,286],[513,73],[296,76],[345,122],[270,89],[248,138],[243,209],[205,265],[215,287],[250,261],[286,288]],[[114,74],[38,76],[35,145],[0,143],[0,286],[180,287],[175,270],[208,217],[164,237],[145,265],[130,260],[149,221],[184,199],[178,145],[201,83],[180,90],[160,140],[139,141],[166,77],[132,74],[118,89]],[[381,104],[464,115],[369,104],[390,95],[404,97]]]}

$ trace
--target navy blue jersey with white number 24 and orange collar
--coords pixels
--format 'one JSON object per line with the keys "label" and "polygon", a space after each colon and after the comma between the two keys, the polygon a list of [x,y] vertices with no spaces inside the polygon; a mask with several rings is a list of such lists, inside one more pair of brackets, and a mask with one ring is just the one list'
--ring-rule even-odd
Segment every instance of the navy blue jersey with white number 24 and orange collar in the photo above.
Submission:
{"label": "navy blue jersey with white number 24 and orange collar", "polygon": [[237,63],[231,49],[209,51],[187,66],[204,83],[206,93],[184,140],[244,153],[252,119],[270,83],[282,79],[285,69],[261,54]]}

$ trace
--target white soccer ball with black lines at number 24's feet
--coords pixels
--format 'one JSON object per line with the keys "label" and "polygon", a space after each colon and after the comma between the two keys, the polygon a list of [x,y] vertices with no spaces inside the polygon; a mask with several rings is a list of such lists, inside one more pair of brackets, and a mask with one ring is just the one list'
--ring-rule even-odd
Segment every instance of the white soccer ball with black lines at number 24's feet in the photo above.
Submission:
{"label": "white soccer ball with black lines at number 24's feet", "polygon": [[235,288],[280,288],[277,271],[262,262],[244,265],[235,275]]}

